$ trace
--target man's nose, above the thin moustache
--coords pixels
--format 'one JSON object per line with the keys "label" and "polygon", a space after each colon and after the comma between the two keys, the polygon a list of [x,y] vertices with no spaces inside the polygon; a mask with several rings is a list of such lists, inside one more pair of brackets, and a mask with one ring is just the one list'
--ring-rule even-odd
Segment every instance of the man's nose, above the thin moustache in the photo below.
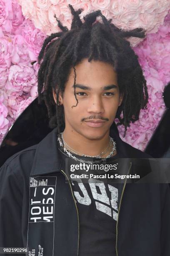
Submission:
{"label": "man's nose, above the thin moustache", "polygon": [[96,114],[104,112],[103,103],[100,97],[97,97],[97,96],[92,97],[92,99],[89,100],[87,111],[89,113],[96,113]]}

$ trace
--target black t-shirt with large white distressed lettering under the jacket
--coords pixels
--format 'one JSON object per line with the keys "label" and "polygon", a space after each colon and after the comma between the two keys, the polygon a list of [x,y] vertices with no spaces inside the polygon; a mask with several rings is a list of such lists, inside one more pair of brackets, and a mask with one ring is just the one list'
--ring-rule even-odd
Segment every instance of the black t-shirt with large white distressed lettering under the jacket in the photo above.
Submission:
{"label": "black t-shirt with large white distressed lettering under the jacket", "polygon": [[[117,184],[112,182],[112,179],[96,178],[94,175],[111,173],[112,171],[106,172],[103,170],[103,166],[115,164],[116,159],[120,156],[119,152],[117,151],[115,156],[105,159],[105,161],[100,163],[99,166],[102,166],[102,170],[100,170],[100,167],[94,170],[92,165],[85,163],[89,166],[87,172],[87,168],[77,170],[73,168],[75,164],[80,166],[80,161],[67,156],[59,143],[58,148],[62,158],[62,169],[67,173],[72,183],[72,189],[77,200],[80,220],[79,255],[116,255]],[[72,156],[84,161],[90,161],[92,164],[95,164],[97,160],[103,160],[82,157],[77,154],[72,154]],[[73,169],[75,169],[74,172]],[[73,175],[71,178],[71,174],[86,174],[88,176],[85,178],[75,178],[75,175]],[[90,178],[90,174],[94,174],[93,177]]]}

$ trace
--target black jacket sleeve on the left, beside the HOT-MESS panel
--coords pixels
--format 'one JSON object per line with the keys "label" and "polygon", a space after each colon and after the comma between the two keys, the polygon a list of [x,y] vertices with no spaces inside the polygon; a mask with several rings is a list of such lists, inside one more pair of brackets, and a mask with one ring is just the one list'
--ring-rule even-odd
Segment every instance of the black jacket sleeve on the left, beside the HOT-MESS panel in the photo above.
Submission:
{"label": "black jacket sleeve on the left, beside the HOT-MESS panel", "polygon": [[13,168],[3,164],[0,168],[0,247],[23,247],[22,198],[22,186]]}

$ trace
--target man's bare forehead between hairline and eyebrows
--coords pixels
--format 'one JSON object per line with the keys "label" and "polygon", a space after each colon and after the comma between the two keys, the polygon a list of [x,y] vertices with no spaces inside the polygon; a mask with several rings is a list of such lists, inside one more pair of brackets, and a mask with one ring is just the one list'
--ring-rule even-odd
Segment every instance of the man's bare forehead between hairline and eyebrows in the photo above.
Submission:
{"label": "man's bare forehead between hairline and eyebrows", "polygon": [[[117,73],[114,67],[106,62],[102,61],[90,61],[83,59],[80,63],[75,66],[76,82],[80,84],[95,85],[114,83],[117,84]],[[74,84],[75,73],[73,67],[70,70],[68,77],[68,84]]]}

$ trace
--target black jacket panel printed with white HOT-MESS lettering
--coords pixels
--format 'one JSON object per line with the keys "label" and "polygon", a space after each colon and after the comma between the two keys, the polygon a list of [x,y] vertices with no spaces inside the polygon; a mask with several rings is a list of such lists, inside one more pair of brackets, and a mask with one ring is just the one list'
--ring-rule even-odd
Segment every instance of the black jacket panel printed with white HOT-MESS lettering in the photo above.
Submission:
{"label": "black jacket panel printed with white HOT-MESS lettering", "polygon": [[28,256],[53,256],[56,180],[52,176],[30,177]]}

